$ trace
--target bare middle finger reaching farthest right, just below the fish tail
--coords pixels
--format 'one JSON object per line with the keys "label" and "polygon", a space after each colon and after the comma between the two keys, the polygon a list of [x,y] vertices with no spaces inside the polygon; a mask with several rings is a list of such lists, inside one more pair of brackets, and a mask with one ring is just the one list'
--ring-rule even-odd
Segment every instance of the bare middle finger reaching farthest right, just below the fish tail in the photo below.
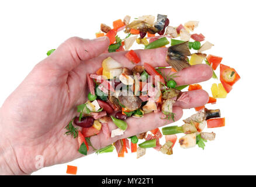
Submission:
{"label": "bare middle finger reaching farthest right, just below the fish tail", "polygon": [[[175,73],[171,71],[170,68],[159,70],[162,72],[162,75],[165,75],[164,77]],[[175,73],[171,78],[177,82],[177,85],[195,84],[212,78],[212,68],[207,64],[192,65],[191,67],[184,68],[183,70]]]}

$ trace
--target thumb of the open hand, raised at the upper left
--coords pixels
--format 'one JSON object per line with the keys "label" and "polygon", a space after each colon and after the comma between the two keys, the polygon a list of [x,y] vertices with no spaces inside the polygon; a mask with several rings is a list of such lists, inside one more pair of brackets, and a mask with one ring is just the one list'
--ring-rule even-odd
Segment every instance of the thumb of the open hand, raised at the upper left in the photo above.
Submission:
{"label": "thumb of the open hand, raised at the upper left", "polygon": [[46,58],[46,61],[56,70],[69,72],[81,61],[99,56],[108,49],[108,46],[109,39],[106,36],[94,40],[71,37]]}

